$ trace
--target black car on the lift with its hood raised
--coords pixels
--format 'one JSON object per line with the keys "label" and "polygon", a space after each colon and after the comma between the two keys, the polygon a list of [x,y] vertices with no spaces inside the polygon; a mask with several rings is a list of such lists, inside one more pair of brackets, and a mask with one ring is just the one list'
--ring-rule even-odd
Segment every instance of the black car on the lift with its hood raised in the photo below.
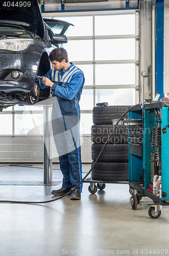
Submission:
{"label": "black car on the lift with its hood raised", "polygon": [[67,42],[64,34],[70,25],[43,19],[38,0],[1,1],[0,110],[14,104],[34,104],[50,96],[50,88],[40,89],[37,76],[51,69],[49,53]]}

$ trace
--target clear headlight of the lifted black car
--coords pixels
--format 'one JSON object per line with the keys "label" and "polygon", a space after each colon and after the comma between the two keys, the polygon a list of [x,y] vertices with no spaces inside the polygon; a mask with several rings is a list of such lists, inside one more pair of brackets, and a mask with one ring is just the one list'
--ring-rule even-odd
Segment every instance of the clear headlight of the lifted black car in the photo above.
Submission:
{"label": "clear headlight of the lifted black car", "polygon": [[3,39],[0,40],[0,50],[23,51],[34,44],[33,39]]}

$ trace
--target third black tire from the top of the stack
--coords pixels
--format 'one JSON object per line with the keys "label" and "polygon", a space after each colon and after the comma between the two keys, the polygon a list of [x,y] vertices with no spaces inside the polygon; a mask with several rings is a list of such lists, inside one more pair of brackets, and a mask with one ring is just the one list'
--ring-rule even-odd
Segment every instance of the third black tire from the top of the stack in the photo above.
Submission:
{"label": "third black tire from the top of the stack", "polygon": [[[92,144],[92,160],[96,161],[104,144]],[[99,162],[128,162],[128,144],[107,144]]]}

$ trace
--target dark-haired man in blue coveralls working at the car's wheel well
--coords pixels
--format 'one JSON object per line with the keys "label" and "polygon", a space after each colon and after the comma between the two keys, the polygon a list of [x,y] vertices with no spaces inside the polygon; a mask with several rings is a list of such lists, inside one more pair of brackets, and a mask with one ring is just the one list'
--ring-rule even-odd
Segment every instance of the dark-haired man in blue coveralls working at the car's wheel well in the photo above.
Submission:
{"label": "dark-haired man in blue coveralls working at the car's wheel well", "polygon": [[[79,141],[79,100],[85,82],[83,72],[68,61],[64,48],[51,51],[52,69],[40,80],[41,88],[53,94],[52,131],[63,174],[62,187],[52,195],[63,196],[82,179]],[[71,200],[81,199],[82,183],[71,193]]]}

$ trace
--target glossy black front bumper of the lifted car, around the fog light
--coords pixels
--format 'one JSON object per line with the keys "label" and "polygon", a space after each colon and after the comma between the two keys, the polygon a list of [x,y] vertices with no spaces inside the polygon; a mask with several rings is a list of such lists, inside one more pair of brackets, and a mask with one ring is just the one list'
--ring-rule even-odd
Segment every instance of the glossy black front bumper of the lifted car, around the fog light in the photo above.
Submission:
{"label": "glossy black front bumper of the lifted car, around the fog light", "polygon": [[[25,50],[11,52],[0,50],[0,91],[30,92],[36,80],[40,54]],[[12,78],[12,71],[17,70],[21,76]]]}

